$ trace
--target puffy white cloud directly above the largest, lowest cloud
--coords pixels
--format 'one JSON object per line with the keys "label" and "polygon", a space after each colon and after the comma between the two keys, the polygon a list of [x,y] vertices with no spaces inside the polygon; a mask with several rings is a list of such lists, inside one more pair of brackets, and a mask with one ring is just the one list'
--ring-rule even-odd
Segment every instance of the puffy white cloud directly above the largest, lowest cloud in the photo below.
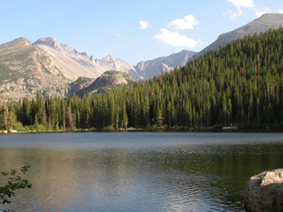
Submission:
{"label": "puffy white cloud directly above the largest, lowest cloud", "polygon": [[198,25],[200,21],[196,20],[194,16],[189,15],[184,18],[172,20],[168,23],[168,27],[173,27],[174,30],[192,30],[195,25]]}

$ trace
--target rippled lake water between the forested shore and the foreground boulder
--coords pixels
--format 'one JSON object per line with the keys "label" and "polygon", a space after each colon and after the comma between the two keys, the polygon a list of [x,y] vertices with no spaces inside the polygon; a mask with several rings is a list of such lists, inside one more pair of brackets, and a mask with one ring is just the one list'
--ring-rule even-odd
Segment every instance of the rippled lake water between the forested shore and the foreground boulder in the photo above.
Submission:
{"label": "rippled lake water between the forested shore and the foreground boulder", "polygon": [[244,211],[248,177],[283,167],[283,134],[1,134],[0,170],[28,164],[16,211]]}

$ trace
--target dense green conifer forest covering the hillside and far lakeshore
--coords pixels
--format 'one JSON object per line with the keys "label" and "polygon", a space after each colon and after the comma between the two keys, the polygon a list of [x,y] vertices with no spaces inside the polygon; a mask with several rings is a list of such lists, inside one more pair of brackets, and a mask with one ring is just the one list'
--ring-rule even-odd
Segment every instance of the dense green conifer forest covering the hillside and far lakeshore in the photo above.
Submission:
{"label": "dense green conifer forest covering the hillside and far lakeshore", "polygon": [[64,100],[43,100],[37,93],[36,99],[4,105],[2,120],[9,111],[23,125],[48,129],[279,127],[283,124],[282,44],[282,28],[246,36],[187,66],[122,90]]}

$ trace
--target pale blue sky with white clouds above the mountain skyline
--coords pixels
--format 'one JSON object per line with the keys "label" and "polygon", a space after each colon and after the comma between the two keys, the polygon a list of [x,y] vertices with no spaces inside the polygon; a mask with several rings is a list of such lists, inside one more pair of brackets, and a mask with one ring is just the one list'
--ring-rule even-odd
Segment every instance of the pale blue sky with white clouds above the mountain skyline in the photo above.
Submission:
{"label": "pale blue sky with white clouds above the mountain skyline", "polygon": [[270,12],[283,13],[283,1],[0,0],[0,44],[55,37],[88,56],[110,54],[136,65],[182,49],[199,52]]}

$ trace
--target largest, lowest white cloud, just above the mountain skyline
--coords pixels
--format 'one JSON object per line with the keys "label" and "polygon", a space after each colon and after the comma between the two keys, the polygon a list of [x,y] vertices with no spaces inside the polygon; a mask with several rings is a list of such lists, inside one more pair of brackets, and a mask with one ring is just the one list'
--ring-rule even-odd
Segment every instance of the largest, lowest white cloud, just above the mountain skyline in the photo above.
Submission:
{"label": "largest, lowest white cloud, just above the mountain skyline", "polygon": [[197,42],[192,38],[180,35],[179,33],[172,33],[164,28],[162,28],[160,33],[155,35],[154,38],[173,47],[195,47],[197,45]]}

